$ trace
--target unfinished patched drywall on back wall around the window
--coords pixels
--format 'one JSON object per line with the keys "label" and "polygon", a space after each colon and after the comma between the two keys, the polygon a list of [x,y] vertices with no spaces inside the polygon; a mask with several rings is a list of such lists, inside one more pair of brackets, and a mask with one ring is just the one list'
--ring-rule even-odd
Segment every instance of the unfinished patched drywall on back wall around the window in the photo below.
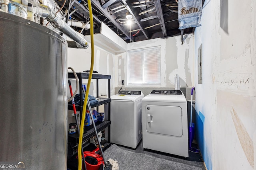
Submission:
{"label": "unfinished patched drywall on back wall around the window", "polygon": [[[147,87],[174,87],[174,76],[179,74],[180,86],[191,87],[194,81],[194,35],[188,35],[184,44],[181,43],[181,36],[169,37],[166,39],[151,39],[128,43],[128,50],[142,49],[160,46],[161,51],[161,85]],[[121,86],[121,80],[127,80],[126,55],[122,53],[118,57],[118,80],[116,85]],[[132,87],[132,86],[129,86]],[[140,86],[143,87],[143,86]]]}

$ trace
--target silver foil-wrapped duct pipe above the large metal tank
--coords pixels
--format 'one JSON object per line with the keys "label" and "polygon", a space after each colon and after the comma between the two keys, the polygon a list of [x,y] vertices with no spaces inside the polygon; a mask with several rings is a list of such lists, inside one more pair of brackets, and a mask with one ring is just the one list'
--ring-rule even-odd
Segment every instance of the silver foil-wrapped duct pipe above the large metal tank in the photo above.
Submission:
{"label": "silver foil-wrapped duct pipe above the large metal tank", "polygon": [[46,18],[47,21],[52,23],[53,27],[59,29],[62,33],[70,37],[72,40],[78,43],[78,47],[81,49],[88,48],[88,42],[84,39],[84,36],[74,29],[72,29],[65,21],[59,18],[48,6],[35,3],[29,0],[28,3],[32,4],[35,9],[35,14],[42,18]]}

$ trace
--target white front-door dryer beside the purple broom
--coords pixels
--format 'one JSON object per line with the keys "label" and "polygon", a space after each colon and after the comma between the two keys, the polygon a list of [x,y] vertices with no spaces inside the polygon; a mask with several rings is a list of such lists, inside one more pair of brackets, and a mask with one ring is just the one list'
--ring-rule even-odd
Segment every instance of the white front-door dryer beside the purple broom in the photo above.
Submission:
{"label": "white front-door dryer beside the purple broom", "polygon": [[180,90],[153,90],[142,99],[143,148],[188,157],[187,101]]}

